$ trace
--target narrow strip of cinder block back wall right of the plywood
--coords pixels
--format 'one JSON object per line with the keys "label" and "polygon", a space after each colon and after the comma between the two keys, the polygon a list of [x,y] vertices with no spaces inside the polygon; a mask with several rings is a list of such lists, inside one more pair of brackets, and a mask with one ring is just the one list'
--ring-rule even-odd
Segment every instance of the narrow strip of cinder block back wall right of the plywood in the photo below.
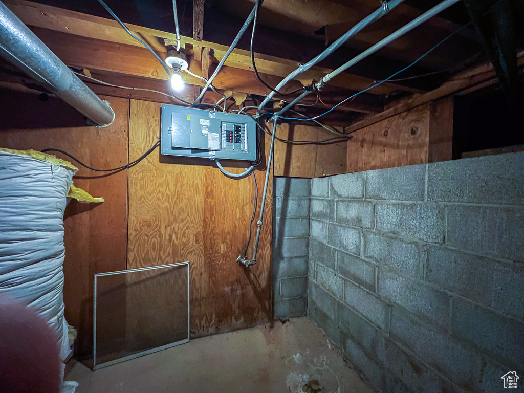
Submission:
{"label": "narrow strip of cinder block back wall right of the plywood", "polygon": [[308,305],[310,179],[275,177],[273,190],[275,318],[302,316]]}

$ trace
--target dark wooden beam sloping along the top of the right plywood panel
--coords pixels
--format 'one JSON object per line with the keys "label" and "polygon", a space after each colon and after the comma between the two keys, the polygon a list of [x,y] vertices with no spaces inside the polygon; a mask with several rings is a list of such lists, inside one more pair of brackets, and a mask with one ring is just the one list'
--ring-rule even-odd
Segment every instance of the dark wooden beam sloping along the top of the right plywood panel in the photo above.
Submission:
{"label": "dark wooden beam sloping along the top of the right plywood panel", "polygon": [[[524,51],[517,54],[517,61],[519,66],[524,64]],[[384,112],[359,119],[347,127],[346,131],[355,132],[356,130],[378,123],[402,112],[410,111],[418,106],[428,104],[442,97],[460,94],[464,91],[473,92],[476,89],[485,88],[494,85],[497,82],[498,79],[491,63],[486,62],[477,67],[456,74],[453,78],[435,90],[425,94],[413,95],[408,99],[399,100],[400,102],[397,105],[388,108]]]}

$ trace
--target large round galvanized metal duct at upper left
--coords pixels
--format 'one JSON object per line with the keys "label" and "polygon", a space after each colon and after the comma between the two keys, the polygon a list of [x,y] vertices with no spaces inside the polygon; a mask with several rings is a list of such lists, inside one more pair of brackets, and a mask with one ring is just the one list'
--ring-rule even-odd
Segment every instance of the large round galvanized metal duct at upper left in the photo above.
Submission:
{"label": "large round galvanized metal duct at upper left", "polygon": [[31,30],[0,2],[0,56],[59,96],[95,125],[113,123],[115,113]]}

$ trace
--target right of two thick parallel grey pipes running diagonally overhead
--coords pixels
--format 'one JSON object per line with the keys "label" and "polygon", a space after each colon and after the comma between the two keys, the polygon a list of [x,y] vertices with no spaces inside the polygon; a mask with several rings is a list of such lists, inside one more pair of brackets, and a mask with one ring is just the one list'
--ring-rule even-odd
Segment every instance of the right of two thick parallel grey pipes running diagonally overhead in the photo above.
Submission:
{"label": "right of two thick parallel grey pipes running diagonally overhead", "polygon": [[433,8],[428,10],[427,12],[425,12],[424,14],[420,15],[418,18],[413,19],[412,21],[410,21],[406,25],[402,26],[397,31],[391,33],[389,36],[387,36],[383,40],[380,40],[375,45],[373,45],[371,48],[366,49],[364,52],[362,52],[358,56],[356,56],[353,59],[351,59],[350,61],[342,64],[336,70],[334,70],[334,71],[330,72],[329,74],[325,75],[324,78],[322,78],[318,83],[315,84],[315,87],[317,89],[322,88],[322,86],[325,83],[329,82],[331,79],[336,77],[336,75],[340,74],[341,72],[344,72],[348,68],[352,67],[352,65],[355,65],[359,61],[362,61],[363,59],[368,57],[370,54],[375,53],[377,50],[379,50],[381,48],[384,48],[386,45],[388,45],[388,43],[390,43],[392,41],[395,41],[397,38],[405,35],[408,31],[411,31],[414,28],[420,26],[421,24],[423,24],[428,19],[430,19],[433,16],[439,14],[444,9],[446,9],[448,7],[451,7],[453,4],[458,3],[459,1],[460,0],[444,0],[442,3],[437,4],[436,6],[434,6]]}

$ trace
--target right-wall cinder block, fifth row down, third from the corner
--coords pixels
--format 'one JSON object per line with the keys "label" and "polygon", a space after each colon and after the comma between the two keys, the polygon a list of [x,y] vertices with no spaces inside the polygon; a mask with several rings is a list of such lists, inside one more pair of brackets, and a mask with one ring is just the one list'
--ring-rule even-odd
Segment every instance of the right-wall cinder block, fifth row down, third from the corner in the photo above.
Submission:
{"label": "right-wall cinder block, fifth row down, third from the corner", "polygon": [[350,281],[344,282],[344,303],[358,311],[378,328],[387,332],[389,324],[389,305],[356,286]]}

